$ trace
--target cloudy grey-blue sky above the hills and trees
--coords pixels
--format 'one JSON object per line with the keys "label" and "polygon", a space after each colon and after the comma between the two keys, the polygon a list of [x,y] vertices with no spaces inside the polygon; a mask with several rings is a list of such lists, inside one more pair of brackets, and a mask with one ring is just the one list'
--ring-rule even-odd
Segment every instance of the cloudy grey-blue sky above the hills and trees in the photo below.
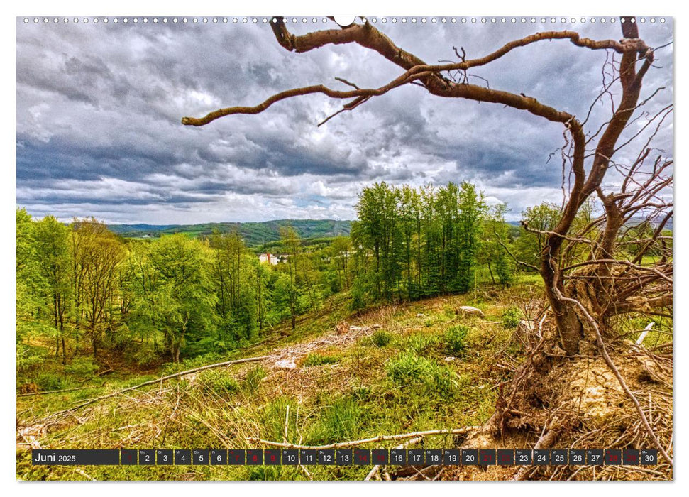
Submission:
{"label": "cloudy grey-blue sky above the hills and trees", "polygon": [[[319,20],[317,26],[334,25]],[[376,26],[429,63],[456,60],[453,46],[477,58],[545,29],[621,37],[619,22],[610,21],[558,19],[553,28],[530,19],[443,25],[429,18]],[[290,29],[305,33],[314,25],[293,25],[290,18]],[[640,34],[651,46],[666,45],[671,19],[646,22]],[[658,67],[646,77],[642,98],[666,87],[647,106],[651,113],[672,102],[672,59],[672,45],[658,50]],[[473,71],[471,82],[486,84],[485,78],[492,88],[524,92],[583,119],[605,60],[604,51],[541,42]],[[16,203],[36,217],[93,215],[110,223],[353,219],[357,193],[381,180],[468,180],[489,202],[507,202],[510,219],[544,200],[561,201],[561,125],[495,104],[440,99],[413,85],[321,127],[341,102],[298,97],[256,116],[228,116],[200,128],[180,124],[182,116],[255,105],[291,87],[346,88],[334,77],[377,87],[400,72],[357,45],[289,53],[260,20],[34,24],[32,18],[25,24],[19,18]],[[588,131],[609,115],[607,99],[595,106]],[[645,123],[642,117],[629,133]],[[672,154],[671,117],[655,145]],[[607,181],[612,187],[614,175]]]}

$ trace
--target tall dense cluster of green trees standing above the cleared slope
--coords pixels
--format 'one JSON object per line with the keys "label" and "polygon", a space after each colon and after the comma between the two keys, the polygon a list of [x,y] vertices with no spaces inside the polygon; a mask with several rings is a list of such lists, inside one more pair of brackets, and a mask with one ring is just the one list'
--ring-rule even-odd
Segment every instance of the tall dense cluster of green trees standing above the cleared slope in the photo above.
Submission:
{"label": "tall dense cluster of green trees standing above the cleared slope", "polygon": [[356,210],[353,308],[367,298],[414,300],[473,288],[486,215],[483,193],[473,185],[417,190],[375,183],[362,190]]}

